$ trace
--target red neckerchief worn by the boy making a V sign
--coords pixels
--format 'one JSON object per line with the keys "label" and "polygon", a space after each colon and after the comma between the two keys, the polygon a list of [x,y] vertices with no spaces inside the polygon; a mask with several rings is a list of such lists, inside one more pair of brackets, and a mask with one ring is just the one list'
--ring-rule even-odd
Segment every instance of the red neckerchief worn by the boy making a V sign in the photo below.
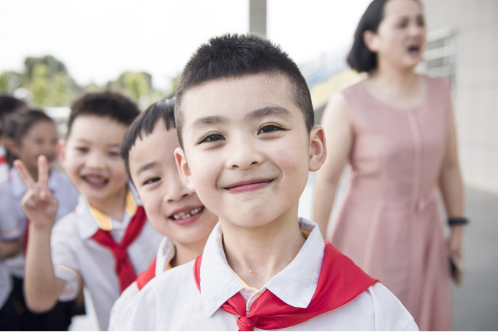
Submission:
{"label": "red neckerchief worn by the boy making a V sign", "polygon": [[114,255],[114,258],[116,259],[115,269],[117,277],[119,278],[121,293],[123,293],[123,291],[136,279],[135,270],[133,270],[133,265],[131,265],[126,249],[135,241],[138,235],[140,235],[145,222],[147,222],[145,210],[143,209],[143,206],[138,206],[133,219],[131,219],[130,225],[126,228],[121,243],[117,244],[114,242],[111,234],[104,230],[98,230],[96,234],[93,234],[93,237],[91,237],[91,239],[97,241],[102,246],[109,248],[112,255]]}

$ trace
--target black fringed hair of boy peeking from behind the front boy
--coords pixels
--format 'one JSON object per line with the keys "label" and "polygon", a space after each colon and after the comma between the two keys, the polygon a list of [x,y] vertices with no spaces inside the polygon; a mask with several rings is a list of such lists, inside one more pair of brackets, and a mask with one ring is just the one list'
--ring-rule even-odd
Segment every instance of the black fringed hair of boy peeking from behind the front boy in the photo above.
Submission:
{"label": "black fringed hair of boy peeking from behind the front boy", "polygon": [[130,174],[130,150],[135,145],[136,140],[142,139],[142,135],[150,135],[154,131],[157,122],[161,120],[166,126],[166,130],[175,128],[175,98],[164,98],[150,105],[148,109],[138,116],[133,121],[128,131],[124,135],[123,143],[121,145],[121,157],[124,160],[126,173],[131,180]]}

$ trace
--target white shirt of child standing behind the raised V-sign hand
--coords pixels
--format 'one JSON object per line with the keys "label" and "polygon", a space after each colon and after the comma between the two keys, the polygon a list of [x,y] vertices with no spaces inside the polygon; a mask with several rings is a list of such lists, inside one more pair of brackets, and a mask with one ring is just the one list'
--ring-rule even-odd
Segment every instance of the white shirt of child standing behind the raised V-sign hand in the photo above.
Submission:
{"label": "white shirt of child standing behind the raised V-sign hand", "polygon": [[[21,208],[21,199],[27,191],[25,183],[16,168],[11,168],[8,173],[8,180],[1,182],[0,187],[8,187],[11,192],[15,218],[20,227],[21,236],[19,239],[20,246],[24,246],[24,234],[27,227],[27,217]],[[52,168],[47,180],[47,187],[51,190],[53,197],[57,200],[57,214],[55,220],[62,218],[76,208],[78,204],[79,192],[72,185],[66,173]],[[55,221],[57,223],[57,221]],[[6,260],[5,265],[11,270],[11,273],[19,278],[24,278],[25,256],[19,253],[15,258]]]}

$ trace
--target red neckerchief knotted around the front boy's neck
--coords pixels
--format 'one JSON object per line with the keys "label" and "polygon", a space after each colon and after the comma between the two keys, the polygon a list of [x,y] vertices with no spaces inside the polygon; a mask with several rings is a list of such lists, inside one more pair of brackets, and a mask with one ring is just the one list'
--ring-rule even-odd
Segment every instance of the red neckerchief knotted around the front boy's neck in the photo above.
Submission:
{"label": "red neckerchief knotted around the front boy's neck", "polygon": [[[194,264],[195,284],[199,292],[201,291],[201,261],[202,255],[195,260]],[[308,307],[304,309],[292,307],[267,289],[254,302],[249,314],[246,314],[246,303],[240,292],[225,302],[221,309],[239,316],[237,319],[239,331],[254,331],[255,327],[261,330],[280,330],[296,326],[346,305],[377,282],[379,280],[363,272],[346,255],[325,241],[320,278],[315,295]]]}

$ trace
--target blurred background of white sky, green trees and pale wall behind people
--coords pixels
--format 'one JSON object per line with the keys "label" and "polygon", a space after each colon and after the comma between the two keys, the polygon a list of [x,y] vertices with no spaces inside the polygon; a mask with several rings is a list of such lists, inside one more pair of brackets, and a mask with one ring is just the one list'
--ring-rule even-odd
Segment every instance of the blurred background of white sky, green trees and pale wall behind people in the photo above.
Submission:
{"label": "blurred background of white sky, green trees and pale wall behind people", "polygon": [[[1,0],[0,93],[58,121],[86,91],[112,88],[145,109],[172,95],[190,54],[210,36],[266,34],[301,67],[316,123],[329,96],[360,76],[346,54],[369,0]],[[428,44],[419,71],[452,81],[466,184],[466,279],[455,329],[498,329],[498,1],[425,0]],[[314,176],[301,198],[310,218]],[[339,190],[341,191],[341,189]],[[340,199],[340,194],[338,199]],[[93,306],[72,330],[96,330]]]}

